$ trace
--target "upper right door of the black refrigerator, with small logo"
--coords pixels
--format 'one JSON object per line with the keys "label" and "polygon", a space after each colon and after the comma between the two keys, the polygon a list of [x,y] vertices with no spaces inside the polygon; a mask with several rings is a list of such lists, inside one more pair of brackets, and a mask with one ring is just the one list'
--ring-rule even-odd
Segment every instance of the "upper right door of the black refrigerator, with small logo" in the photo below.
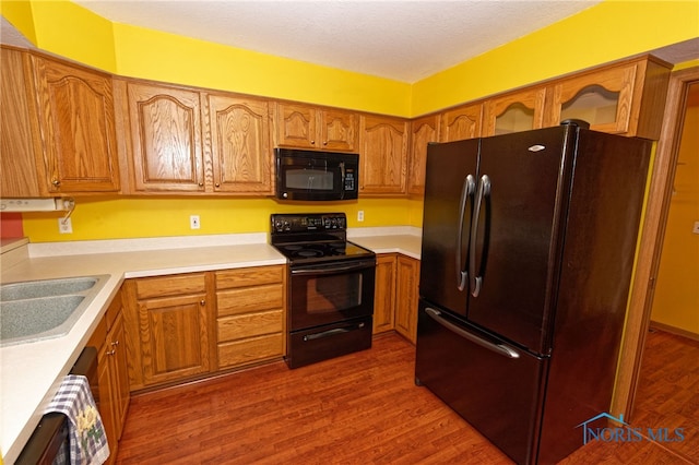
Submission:
{"label": "upper right door of the black refrigerator, with small logo", "polygon": [[477,293],[467,319],[543,355],[573,155],[568,134],[574,129],[550,128],[486,138],[481,145],[470,270]]}

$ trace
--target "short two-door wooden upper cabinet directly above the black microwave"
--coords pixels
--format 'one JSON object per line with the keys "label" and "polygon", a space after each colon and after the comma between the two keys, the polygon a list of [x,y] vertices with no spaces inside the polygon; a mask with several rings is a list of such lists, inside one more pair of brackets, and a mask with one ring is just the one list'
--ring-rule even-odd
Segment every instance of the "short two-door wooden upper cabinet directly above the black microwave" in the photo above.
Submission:
{"label": "short two-door wooden upper cabinet directly above the black microwave", "polygon": [[294,148],[354,152],[358,115],[303,104],[276,104],[276,145]]}

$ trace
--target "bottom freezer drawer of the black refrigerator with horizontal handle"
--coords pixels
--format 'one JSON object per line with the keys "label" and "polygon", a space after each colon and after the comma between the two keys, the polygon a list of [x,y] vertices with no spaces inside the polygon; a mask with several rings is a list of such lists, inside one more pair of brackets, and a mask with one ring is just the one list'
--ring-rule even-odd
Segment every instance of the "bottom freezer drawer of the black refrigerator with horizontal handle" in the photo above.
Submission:
{"label": "bottom freezer drawer of the black refrigerator with horizontal handle", "polygon": [[548,359],[509,347],[422,300],[418,319],[416,382],[513,461],[535,463]]}

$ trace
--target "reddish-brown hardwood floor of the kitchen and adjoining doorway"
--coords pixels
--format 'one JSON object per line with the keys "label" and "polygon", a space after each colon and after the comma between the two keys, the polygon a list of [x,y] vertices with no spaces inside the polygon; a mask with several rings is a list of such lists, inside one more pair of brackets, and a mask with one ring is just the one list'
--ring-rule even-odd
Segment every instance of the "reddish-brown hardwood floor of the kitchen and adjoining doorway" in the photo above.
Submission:
{"label": "reddish-brown hardwood floor of the kitchen and adjoining doorway", "polygon": [[[415,386],[414,357],[413,345],[389,334],[376,338],[369,350],[296,370],[277,362],[134,396],[117,463],[511,463],[427,389]],[[691,362],[697,360],[695,354]],[[695,398],[682,412],[694,421],[694,431],[691,426],[686,431],[696,441],[697,372],[687,379],[686,390]],[[657,421],[675,428],[663,422],[670,418]],[[696,442],[686,445],[698,449]],[[650,441],[591,442],[562,463],[685,464],[696,458],[696,452],[674,453]]]}

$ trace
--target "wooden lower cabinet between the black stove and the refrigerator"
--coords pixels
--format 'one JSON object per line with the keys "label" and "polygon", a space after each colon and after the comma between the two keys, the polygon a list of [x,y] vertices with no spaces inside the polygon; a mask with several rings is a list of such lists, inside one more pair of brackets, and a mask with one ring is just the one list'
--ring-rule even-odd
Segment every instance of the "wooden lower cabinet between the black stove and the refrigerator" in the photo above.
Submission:
{"label": "wooden lower cabinet between the black stove and the refrigerator", "polygon": [[419,260],[400,253],[377,255],[374,334],[395,330],[415,344]]}

